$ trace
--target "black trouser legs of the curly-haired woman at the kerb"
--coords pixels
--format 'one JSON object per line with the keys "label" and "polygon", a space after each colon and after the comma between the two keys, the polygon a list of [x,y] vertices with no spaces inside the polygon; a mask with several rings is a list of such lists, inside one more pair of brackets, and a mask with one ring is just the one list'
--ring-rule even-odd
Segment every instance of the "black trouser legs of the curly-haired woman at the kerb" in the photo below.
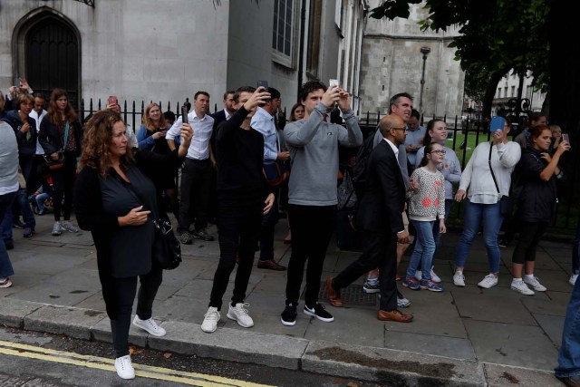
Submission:
{"label": "black trouser legs of the curly-haired woman at the kerb", "polygon": [[[163,270],[152,268],[140,278],[139,295],[137,295],[137,315],[141,320],[149,320],[153,313],[153,300],[163,280]],[[137,292],[137,277],[112,278],[116,293],[116,315],[111,318],[112,345],[115,357],[129,354],[129,328],[131,327],[131,311],[135,293]]]}

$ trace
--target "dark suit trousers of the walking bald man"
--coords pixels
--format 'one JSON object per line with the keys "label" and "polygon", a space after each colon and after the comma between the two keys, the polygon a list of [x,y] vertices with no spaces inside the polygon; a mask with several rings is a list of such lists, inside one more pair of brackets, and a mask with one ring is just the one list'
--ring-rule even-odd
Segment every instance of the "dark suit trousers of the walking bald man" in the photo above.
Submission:
{"label": "dark suit trousers of the walking bald man", "polygon": [[340,292],[340,289],[351,285],[360,276],[379,267],[381,310],[391,312],[397,309],[397,235],[386,231],[362,230],[361,239],[362,255],[333,278],[333,289]]}

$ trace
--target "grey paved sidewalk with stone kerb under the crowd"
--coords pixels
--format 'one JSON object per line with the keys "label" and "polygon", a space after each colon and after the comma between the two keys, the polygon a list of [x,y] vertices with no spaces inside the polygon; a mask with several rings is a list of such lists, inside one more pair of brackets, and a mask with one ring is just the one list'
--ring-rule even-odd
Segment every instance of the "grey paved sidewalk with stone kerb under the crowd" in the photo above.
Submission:
{"label": "grey paved sidewalk with stone kerb under the crowd", "polygon": [[[22,230],[14,229],[15,247],[9,254],[16,274],[12,287],[0,289],[0,324],[111,341],[91,234],[80,231],[53,237],[52,214],[36,218],[34,237],[24,239]],[[210,230],[217,237],[215,227]],[[290,247],[282,243],[285,232],[282,219],[276,227],[275,259],[283,265],[290,257]],[[131,327],[131,343],[385,385],[561,385],[553,369],[572,291],[568,284],[572,246],[540,244],[536,276],[548,291],[526,296],[509,289],[513,248],[502,249],[498,286],[478,288],[488,267],[480,237],[466,264],[467,286],[454,286],[452,264],[458,237],[454,233],[443,236],[435,261],[443,293],[413,292],[400,285],[403,295],[411,299],[405,310],[415,315],[411,324],[377,320],[376,295],[362,294],[361,278],[344,290],[344,308],[334,308],[321,298],[334,315],[333,323],[299,313],[295,326],[286,327],[280,324],[285,272],[255,266],[247,295],[255,326],[242,328],[222,310],[214,334],[203,333],[199,325],[208,307],[218,242],[196,239],[192,246],[182,245],[181,266],[164,272],[153,307],[154,317],[168,334],[157,338]],[[358,256],[335,246],[333,242],[328,250],[323,280]],[[407,262],[408,256],[401,264],[401,275]],[[324,285],[321,294],[325,295]],[[228,287],[224,301],[230,296]]]}

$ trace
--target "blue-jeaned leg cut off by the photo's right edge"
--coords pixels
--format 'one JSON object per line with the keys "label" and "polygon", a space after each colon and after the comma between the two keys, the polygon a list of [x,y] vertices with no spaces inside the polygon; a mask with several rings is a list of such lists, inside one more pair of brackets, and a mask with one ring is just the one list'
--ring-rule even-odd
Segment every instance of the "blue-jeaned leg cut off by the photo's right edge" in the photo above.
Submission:
{"label": "blue-jeaned leg cut off by the photo's right edge", "polygon": [[558,353],[556,377],[580,375],[580,281],[576,281],[565,312],[562,346]]}

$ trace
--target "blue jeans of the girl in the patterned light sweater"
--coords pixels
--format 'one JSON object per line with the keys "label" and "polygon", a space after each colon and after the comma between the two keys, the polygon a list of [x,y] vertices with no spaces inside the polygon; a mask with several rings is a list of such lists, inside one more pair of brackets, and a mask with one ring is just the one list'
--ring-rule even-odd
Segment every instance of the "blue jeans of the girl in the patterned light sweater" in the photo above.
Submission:
{"label": "blue jeans of the girl in the patterned light sweater", "polygon": [[411,220],[411,222],[417,232],[417,240],[415,241],[415,248],[411,254],[409,267],[407,268],[407,276],[415,276],[415,271],[417,271],[417,267],[420,265],[422,274],[421,279],[430,281],[433,255],[435,254],[433,228],[434,224],[439,226],[439,220],[433,220],[430,222]]}

